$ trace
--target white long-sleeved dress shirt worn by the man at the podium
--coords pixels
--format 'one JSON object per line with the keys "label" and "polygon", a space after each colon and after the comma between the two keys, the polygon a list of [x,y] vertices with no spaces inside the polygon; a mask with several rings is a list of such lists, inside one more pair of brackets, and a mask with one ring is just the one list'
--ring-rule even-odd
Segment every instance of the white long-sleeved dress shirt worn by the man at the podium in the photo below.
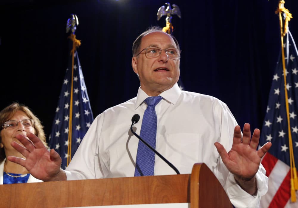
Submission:
{"label": "white long-sleeved dress shirt worn by the man at the podium", "polygon": [[[223,164],[215,146],[220,142],[227,151],[232,147],[234,116],[225,103],[212,96],[181,91],[177,84],[160,94],[157,115],[156,150],[181,174],[190,174],[193,164],[204,162],[218,178],[235,207],[258,207],[267,192],[268,178],[260,165],[257,196],[241,189]],[[140,115],[134,125],[139,135],[148,95],[138,95],[98,115],[83,138],[66,169],[67,180],[131,177],[135,172],[139,140],[130,131],[131,118]],[[154,175],[176,174],[158,156]]]}

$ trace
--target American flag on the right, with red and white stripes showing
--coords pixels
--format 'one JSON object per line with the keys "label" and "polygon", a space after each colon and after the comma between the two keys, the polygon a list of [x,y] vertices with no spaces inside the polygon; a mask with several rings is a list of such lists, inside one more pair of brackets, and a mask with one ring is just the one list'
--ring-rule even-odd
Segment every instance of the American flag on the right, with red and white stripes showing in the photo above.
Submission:
{"label": "American flag on the right, with red and white stripes showing", "polygon": [[[288,122],[285,102],[285,87],[288,93],[288,106],[294,162],[298,165],[298,52],[291,33],[285,35],[285,69],[286,85],[283,76],[282,55],[272,79],[268,106],[260,146],[271,141],[272,147],[263,157],[262,164],[268,176],[268,192],[262,196],[261,208],[298,207],[298,202],[291,202],[291,173],[290,173],[290,146]],[[296,191],[296,198],[298,198]]]}

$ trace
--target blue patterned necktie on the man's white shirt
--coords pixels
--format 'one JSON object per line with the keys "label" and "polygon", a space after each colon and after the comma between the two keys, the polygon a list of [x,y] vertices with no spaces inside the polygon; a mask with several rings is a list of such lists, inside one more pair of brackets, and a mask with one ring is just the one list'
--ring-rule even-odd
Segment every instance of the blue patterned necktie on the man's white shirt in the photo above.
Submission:
{"label": "blue patterned necktie on the man's white shirt", "polygon": [[[144,112],[140,137],[155,149],[157,117],[155,106],[161,101],[161,96],[152,96],[145,99],[148,107]],[[153,176],[155,153],[139,140],[136,154],[136,170],[134,176]]]}

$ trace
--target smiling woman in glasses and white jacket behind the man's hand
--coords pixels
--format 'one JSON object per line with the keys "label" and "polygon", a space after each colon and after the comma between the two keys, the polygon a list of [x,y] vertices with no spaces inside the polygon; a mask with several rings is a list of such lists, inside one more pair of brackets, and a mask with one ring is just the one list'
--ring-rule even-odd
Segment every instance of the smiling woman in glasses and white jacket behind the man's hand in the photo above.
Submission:
{"label": "smiling woman in glasses and white jacket behind the man's hand", "polygon": [[27,137],[27,132],[31,132],[47,147],[41,121],[27,106],[14,102],[1,110],[0,125],[0,184],[42,182],[30,175],[23,166],[6,159],[7,156],[25,158],[10,145],[12,141],[21,144],[15,138],[18,134]]}

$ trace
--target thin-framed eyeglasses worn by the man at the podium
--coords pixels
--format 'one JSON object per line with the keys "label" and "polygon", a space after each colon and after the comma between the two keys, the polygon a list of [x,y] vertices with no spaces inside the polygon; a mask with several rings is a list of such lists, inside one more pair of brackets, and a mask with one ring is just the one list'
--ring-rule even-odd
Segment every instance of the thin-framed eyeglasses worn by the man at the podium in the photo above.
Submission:
{"label": "thin-framed eyeglasses worn by the man at the podium", "polygon": [[[167,56],[171,59],[174,59],[174,60],[178,60],[178,58],[180,57],[180,53],[181,53],[181,50],[177,49],[177,48],[174,48],[174,47],[171,47],[171,48],[167,48],[167,49],[161,49],[159,47],[154,47],[154,46],[149,46],[145,49],[143,49],[142,51],[146,50],[146,57],[147,58],[156,58],[156,57],[159,57],[159,55],[162,53],[162,51],[165,51]],[[140,53],[142,53],[142,51],[140,51],[138,53],[138,55]],[[138,56],[136,55],[136,56]]]}

